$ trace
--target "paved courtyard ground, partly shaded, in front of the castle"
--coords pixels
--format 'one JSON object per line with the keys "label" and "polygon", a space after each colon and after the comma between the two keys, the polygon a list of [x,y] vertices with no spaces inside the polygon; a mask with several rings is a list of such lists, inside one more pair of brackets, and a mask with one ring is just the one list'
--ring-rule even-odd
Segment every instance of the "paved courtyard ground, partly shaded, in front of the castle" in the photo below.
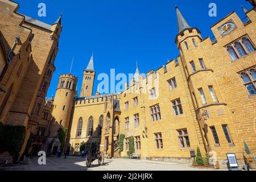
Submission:
{"label": "paved courtyard ground, partly shaded, in front of the castle", "polygon": [[[38,158],[33,157],[27,164],[0,167],[0,171],[216,171],[216,169],[192,168],[191,164],[155,162],[136,159],[106,159],[104,166],[98,166],[97,161],[91,167],[86,167],[85,159],[79,156],[67,156],[67,159],[56,156],[47,157],[46,165],[39,165]],[[221,169],[225,170],[225,169]]]}

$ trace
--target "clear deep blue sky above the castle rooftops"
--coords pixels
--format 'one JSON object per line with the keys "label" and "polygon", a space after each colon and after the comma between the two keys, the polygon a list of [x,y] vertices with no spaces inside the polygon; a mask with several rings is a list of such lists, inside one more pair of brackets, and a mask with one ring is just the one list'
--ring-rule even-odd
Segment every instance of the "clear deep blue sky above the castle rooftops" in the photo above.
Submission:
{"label": "clear deep blue sky above the castle rooftops", "polygon": [[[175,5],[179,6],[192,27],[201,31],[203,38],[212,37],[210,26],[236,11],[240,18],[245,14],[245,0],[16,0],[19,13],[26,14],[52,24],[63,13],[63,31],[59,53],[47,97],[55,94],[59,75],[68,73],[72,57],[75,57],[72,74],[79,77],[80,93],[82,73],[94,52],[96,74],[134,73],[136,61],[139,69],[146,73],[175,59],[179,52],[174,43],[177,34]],[[38,16],[38,4],[46,3],[46,17]],[[193,2],[193,3],[191,3]],[[208,5],[217,4],[217,17],[208,15]],[[97,77],[96,77],[97,78]],[[95,81],[94,93],[97,90]]]}

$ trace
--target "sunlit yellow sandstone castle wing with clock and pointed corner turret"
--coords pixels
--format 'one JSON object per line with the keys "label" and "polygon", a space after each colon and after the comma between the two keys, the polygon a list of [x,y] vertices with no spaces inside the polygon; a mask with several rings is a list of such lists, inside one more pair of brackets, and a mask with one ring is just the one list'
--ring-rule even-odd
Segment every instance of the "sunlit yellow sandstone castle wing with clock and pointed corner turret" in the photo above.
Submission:
{"label": "sunlit yellow sandstone castle wing with clock and pointed corner turret", "polygon": [[[226,166],[229,152],[243,163],[243,142],[255,152],[255,7],[245,10],[243,22],[232,12],[214,24],[213,41],[189,26],[177,7],[176,12],[180,56],[146,76],[137,68],[124,92],[92,96],[96,75],[92,57],[80,97],[70,102],[71,119],[63,120],[69,123],[65,145],[69,154],[80,154],[84,142],[85,150],[95,143],[110,157],[127,156],[130,137],[135,152],[151,160],[191,162],[191,151],[199,147],[203,155],[213,154]],[[65,102],[58,92],[57,106]],[[119,151],[121,134],[123,151]]]}

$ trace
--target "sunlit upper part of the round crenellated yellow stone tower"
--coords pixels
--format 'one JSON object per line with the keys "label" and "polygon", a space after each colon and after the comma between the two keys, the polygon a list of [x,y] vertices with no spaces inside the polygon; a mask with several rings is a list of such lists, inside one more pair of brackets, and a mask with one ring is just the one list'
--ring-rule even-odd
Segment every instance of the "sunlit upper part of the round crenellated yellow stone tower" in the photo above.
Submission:
{"label": "sunlit upper part of the round crenellated yellow stone tower", "polygon": [[76,96],[77,77],[70,74],[60,75],[53,102],[53,119],[62,127],[68,128],[73,100]]}

